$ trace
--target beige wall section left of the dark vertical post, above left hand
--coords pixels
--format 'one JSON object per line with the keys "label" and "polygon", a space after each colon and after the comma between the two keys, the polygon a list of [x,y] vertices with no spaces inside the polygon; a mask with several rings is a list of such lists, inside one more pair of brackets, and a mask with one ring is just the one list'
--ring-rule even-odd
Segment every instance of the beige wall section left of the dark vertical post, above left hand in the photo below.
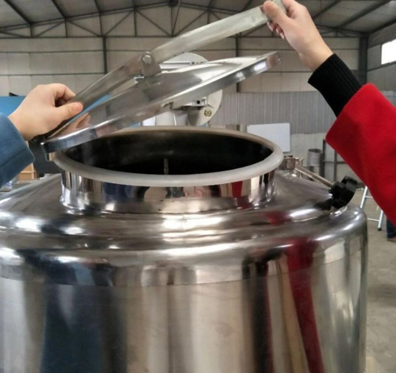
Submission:
{"label": "beige wall section left of the dark vertical post, above left hand", "polygon": [[102,75],[99,38],[0,39],[0,96],[52,82],[80,91]]}

